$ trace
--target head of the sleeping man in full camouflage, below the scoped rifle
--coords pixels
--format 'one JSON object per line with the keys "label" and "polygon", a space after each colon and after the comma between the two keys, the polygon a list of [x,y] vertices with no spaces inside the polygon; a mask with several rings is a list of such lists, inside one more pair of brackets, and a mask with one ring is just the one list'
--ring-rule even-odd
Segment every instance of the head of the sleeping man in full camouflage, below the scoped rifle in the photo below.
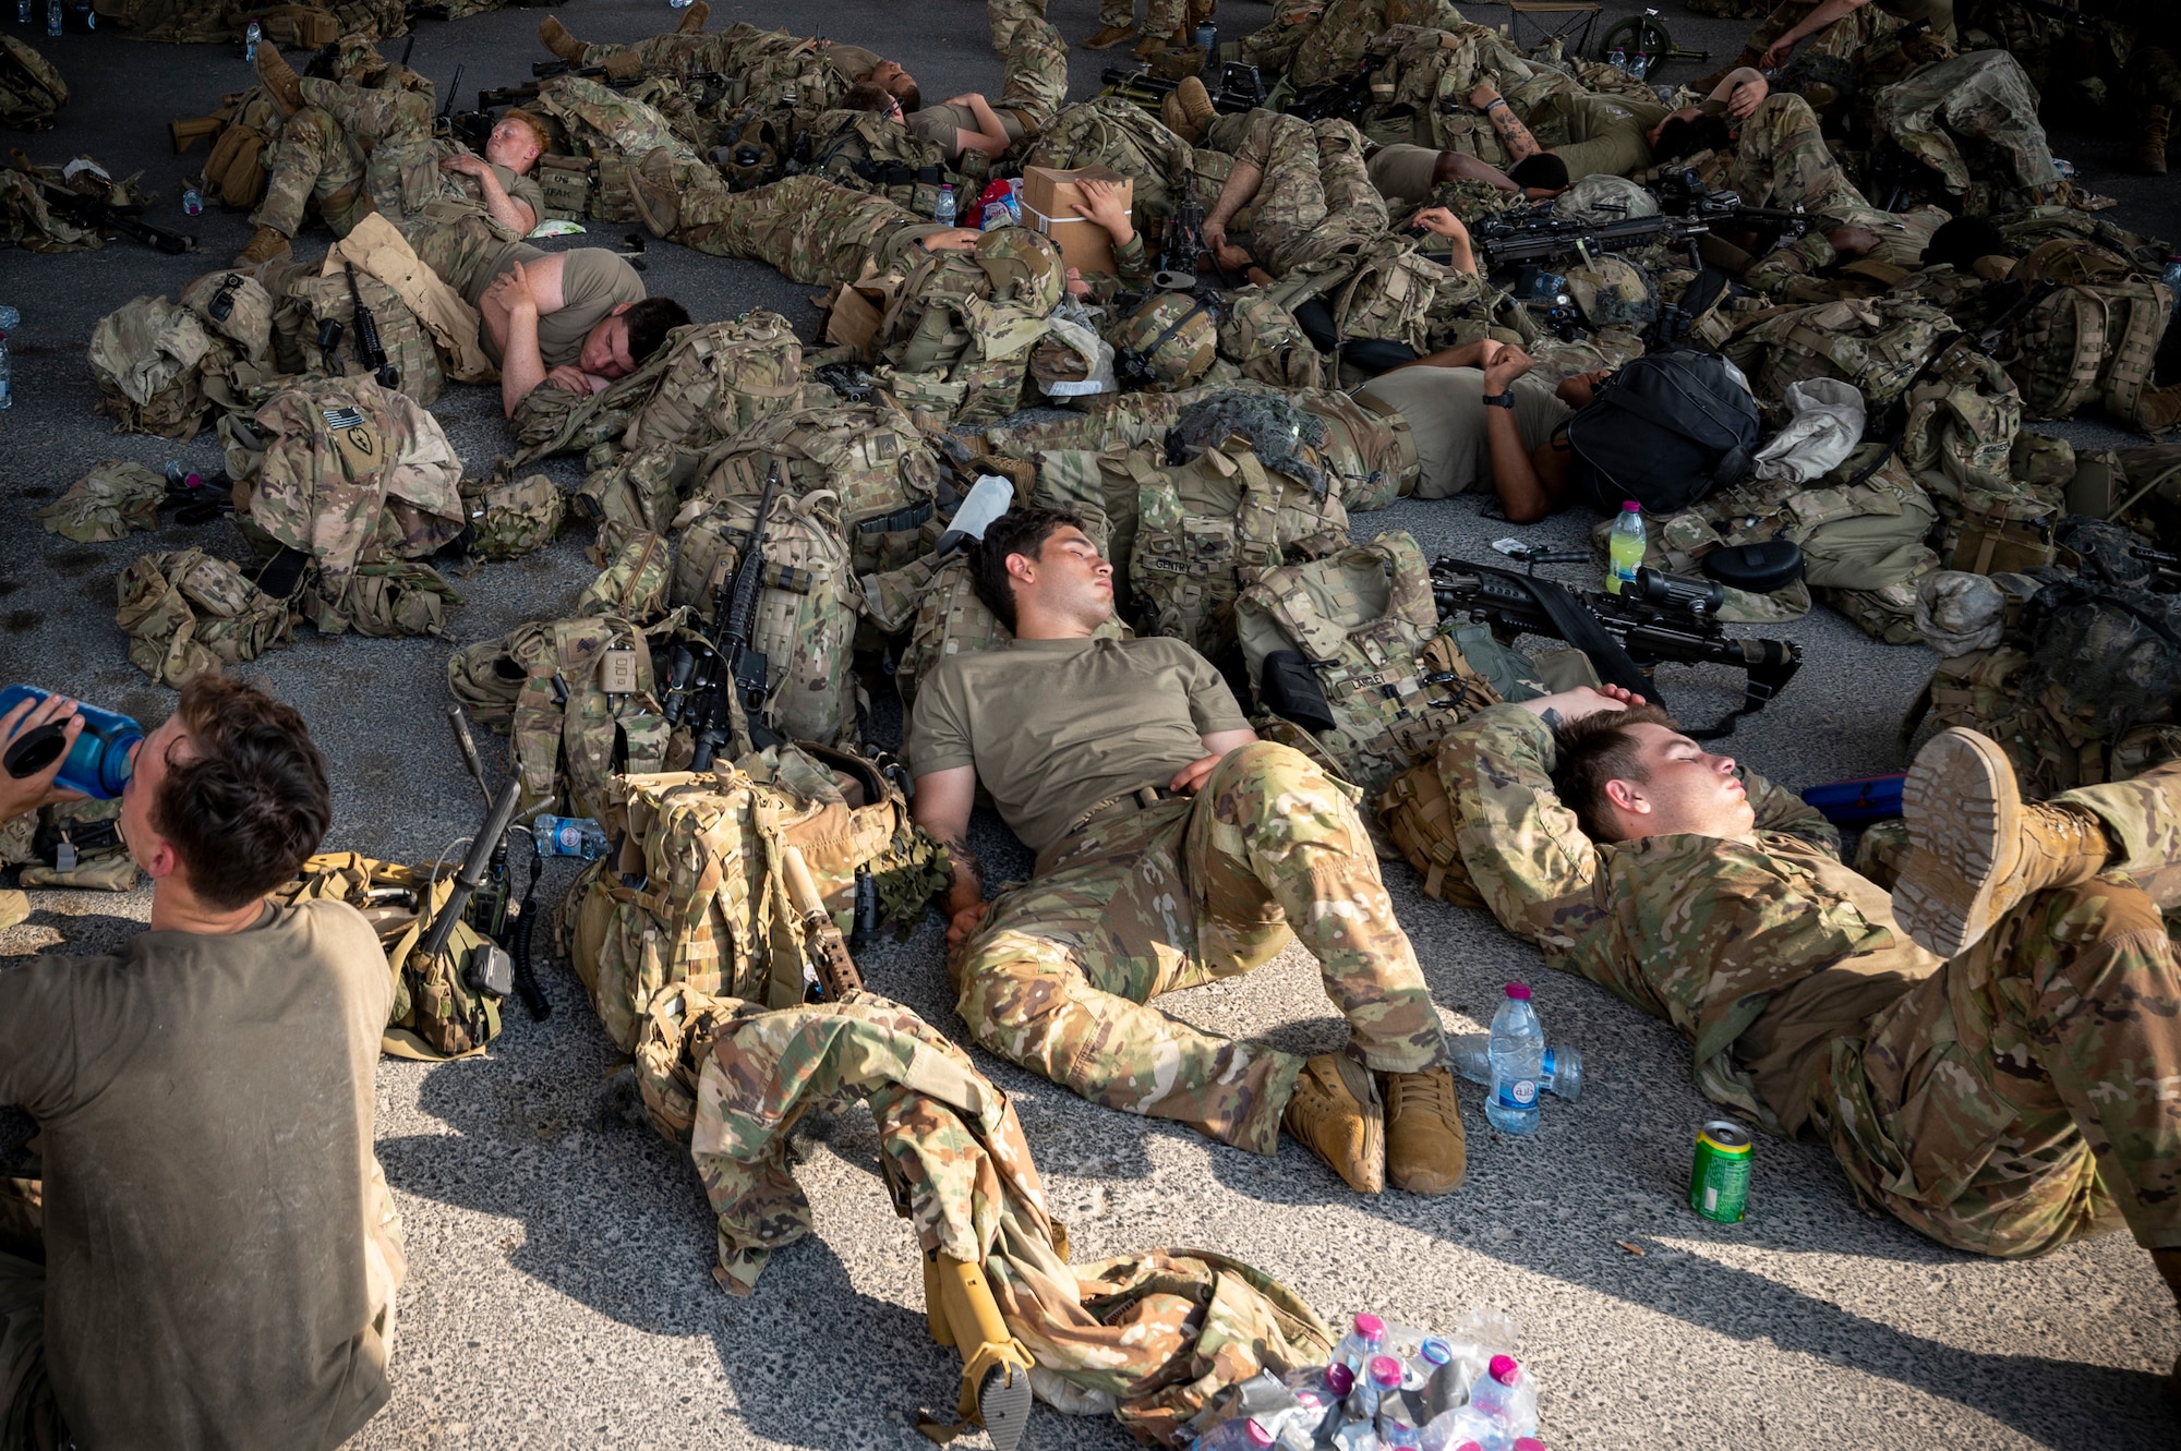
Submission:
{"label": "head of the sleeping man in full camouflage, below the scoped rifle", "polygon": [[[1592,841],[1638,837],[1740,837],[1756,810],[1732,756],[1712,756],[1658,706],[1623,710],[1592,691],[1570,691],[1588,715],[1553,728],[1553,793]],[[1553,717],[1546,717],[1551,723]]]}

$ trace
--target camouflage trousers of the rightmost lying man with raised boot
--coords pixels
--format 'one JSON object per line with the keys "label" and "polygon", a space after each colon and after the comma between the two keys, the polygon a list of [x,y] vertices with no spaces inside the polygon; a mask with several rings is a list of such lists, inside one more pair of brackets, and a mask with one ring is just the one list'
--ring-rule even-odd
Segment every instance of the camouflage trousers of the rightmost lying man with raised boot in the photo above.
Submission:
{"label": "camouflage trousers of the rightmost lying man with raised boot", "polygon": [[2055,800],[2098,813],[2120,865],[2022,902],[1834,1041],[1812,1129],[1858,1194],[1954,1248],[2037,1255],[2120,1222],[2177,1248],[2181,965],[2159,900],[2181,767]]}

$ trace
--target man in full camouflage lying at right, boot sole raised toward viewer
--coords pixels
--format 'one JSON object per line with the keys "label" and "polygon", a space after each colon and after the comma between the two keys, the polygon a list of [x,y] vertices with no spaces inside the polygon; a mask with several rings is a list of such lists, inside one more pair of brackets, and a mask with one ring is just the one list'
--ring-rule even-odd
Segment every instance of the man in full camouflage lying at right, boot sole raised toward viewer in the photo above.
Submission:
{"label": "man in full camouflage lying at right, boot sole raised toward viewer", "polygon": [[2181,763],[2024,804],[1996,743],[1945,730],[1891,900],[1795,793],[1625,691],[1494,706],[1437,769],[1501,924],[1688,1033],[1710,1098],[1828,1142],[1941,1244],[2126,1222],[2181,1294]]}

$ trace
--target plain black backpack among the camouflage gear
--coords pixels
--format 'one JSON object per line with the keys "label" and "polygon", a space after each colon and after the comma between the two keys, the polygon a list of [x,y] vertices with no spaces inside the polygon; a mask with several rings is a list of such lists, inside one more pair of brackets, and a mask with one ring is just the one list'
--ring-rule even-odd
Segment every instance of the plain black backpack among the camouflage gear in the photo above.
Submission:
{"label": "plain black backpack among the camouflage gear", "polygon": [[1712,353],[1647,353],[1568,418],[1570,497],[1601,514],[1634,499],[1673,514],[1738,484],[1764,434],[1758,401]]}

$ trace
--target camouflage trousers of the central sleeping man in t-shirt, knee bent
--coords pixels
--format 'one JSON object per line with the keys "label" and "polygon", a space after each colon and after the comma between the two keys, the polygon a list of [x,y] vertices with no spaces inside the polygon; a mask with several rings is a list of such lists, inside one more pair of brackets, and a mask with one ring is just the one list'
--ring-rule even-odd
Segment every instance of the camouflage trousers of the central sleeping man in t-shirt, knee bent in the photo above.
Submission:
{"label": "camouflage trousers of the central sleeping man in t-shirt, knee bent", "polygon": [[1245,745],[1193,800],[1101,817],[1040,865],[951,963],[957,1007],[979,1044],[1093,1102],[1274,1153],[1302,1061],[1149,1002],[1250,972],[1289,937],[1317,956],[1370,1068],[1442,1059],[1363,821],[1296,749]]}

